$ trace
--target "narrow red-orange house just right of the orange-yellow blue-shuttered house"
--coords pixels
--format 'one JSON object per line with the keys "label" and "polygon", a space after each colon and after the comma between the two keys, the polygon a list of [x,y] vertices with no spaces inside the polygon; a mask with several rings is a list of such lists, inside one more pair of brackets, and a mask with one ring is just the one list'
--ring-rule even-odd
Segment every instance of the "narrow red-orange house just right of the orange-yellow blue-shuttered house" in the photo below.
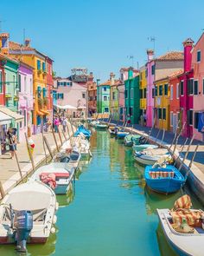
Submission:
{"label": "narrow red-orange house just right of the orange-yellow blue-shuttered house", "polygon": [[47,84],[47,97],[48,97],[48,111],[50,112],[50,121],[53,119],[53,86],[54,86],[54,80],[53,80],[53,60],[50,59],[48,56],[46,58],[47,62],[47,76],[46,76],[46,84]]}

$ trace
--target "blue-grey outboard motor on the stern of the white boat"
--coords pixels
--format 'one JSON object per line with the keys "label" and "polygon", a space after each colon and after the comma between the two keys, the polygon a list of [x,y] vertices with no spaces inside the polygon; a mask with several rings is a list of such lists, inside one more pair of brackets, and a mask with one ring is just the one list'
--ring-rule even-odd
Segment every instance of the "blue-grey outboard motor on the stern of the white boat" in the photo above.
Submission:
{"label": "blue-grey outboard motor on the stern of the white boat", "polygon": [[16,229],[16,249],[26,252],[26,241],[33,228],[33,214],[30,211],[18,211],[15,214],[14,228]]}

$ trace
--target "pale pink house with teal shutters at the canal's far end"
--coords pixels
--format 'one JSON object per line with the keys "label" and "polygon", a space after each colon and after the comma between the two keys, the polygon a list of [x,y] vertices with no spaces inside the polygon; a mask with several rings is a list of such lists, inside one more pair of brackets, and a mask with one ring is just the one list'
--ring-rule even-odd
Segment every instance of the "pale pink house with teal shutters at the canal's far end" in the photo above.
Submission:
{"label": "pale pink house with teal shutters at the canal's far end", "polygon": [[72,82],[67,78],[58,78],[54,81],[54,89],[56,89],[57,105],[71,105],[75,108],[78,108],[78,110],[73,110],[73,116],[79,114],[80,110],[86,114],[86,85]]}

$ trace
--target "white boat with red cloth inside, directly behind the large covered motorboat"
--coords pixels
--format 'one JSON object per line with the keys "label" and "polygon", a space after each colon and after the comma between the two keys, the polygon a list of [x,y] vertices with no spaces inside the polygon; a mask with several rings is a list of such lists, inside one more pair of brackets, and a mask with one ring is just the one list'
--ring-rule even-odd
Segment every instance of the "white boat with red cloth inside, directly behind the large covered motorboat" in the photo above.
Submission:
{"label": "white boat with red cloth inside, directly behind the large covered motorboat", "polygon": [[67,194],[73,181],[74,168],[67,162],[51,162],[38,168],[30,180],[41,181],[55,194]]}

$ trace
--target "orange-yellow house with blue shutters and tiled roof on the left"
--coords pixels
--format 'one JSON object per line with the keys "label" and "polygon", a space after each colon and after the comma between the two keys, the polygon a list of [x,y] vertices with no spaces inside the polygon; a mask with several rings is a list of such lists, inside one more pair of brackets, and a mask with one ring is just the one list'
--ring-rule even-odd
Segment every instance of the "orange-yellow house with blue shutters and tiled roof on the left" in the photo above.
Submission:
{"label": "orange-yellow house with blue shutters and tiled roof on the left", "polygon": [[48,88],[47,88],[47,56],[44,56],[36,49],[30,47],[30,40],[25,40],[22,46],[19,43],[10,42],[9,55],[29,64],[34,68],[33,71],[33,95],[34,112],[33,124],[34,134],[41,132],[41,118],[49,115],[48,107]]}

